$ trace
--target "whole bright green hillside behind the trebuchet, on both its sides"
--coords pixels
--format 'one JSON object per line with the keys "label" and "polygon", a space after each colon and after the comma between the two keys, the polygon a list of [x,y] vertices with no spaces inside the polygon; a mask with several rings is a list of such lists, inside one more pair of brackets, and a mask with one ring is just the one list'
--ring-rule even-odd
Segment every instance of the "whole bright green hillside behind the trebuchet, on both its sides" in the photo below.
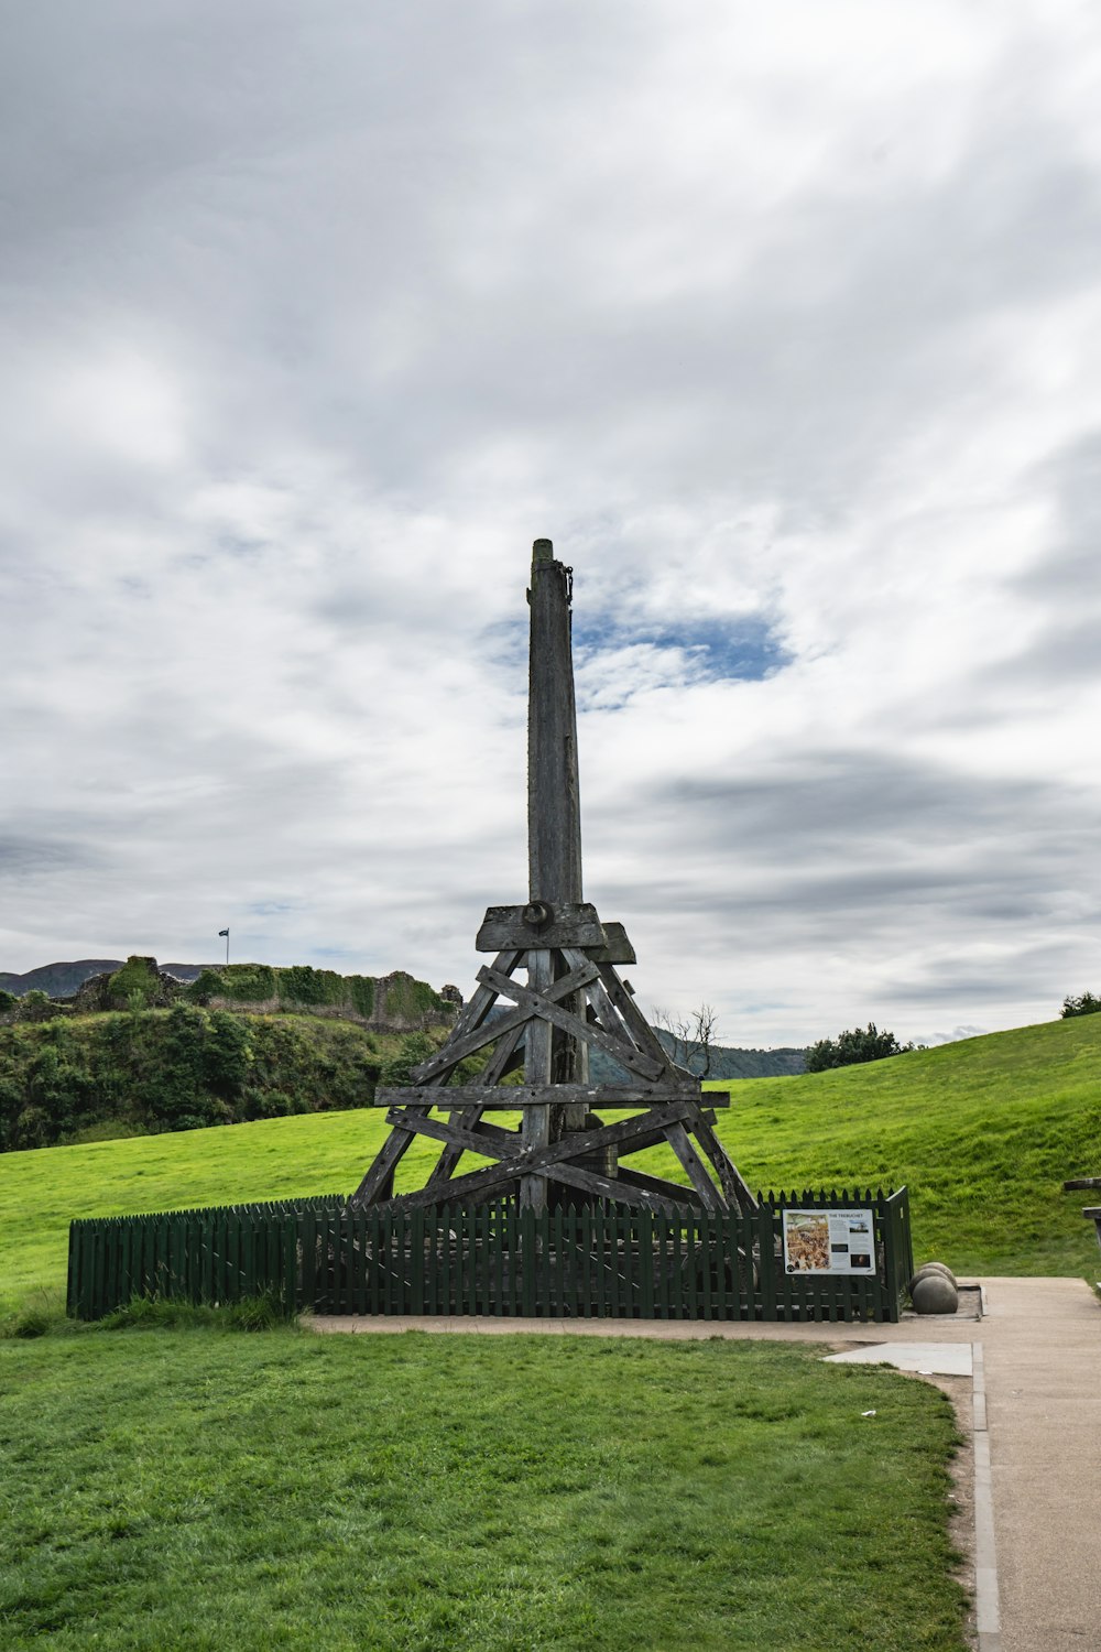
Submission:
{"label": "whole bright green hillside behind the trebuchet, on both its sides", "polygon": [[[1101,1016],[911,1051],[890,1061],[726,1089],[720,1133],[754,1188],[911,1191],[919,1259],[964,1274],[1098,1277],[1084,1199],[1101,1175]],[[385,1135],[352,1110],[0,1156],[0,1315],[59,1290],[73,1216],[345,1193]],[[650,1168],[677,1175],[669,1150]],[[403,1165],[423,1180],[428,1148]],[[401,1184],[401,1183],[399,1183]]]}

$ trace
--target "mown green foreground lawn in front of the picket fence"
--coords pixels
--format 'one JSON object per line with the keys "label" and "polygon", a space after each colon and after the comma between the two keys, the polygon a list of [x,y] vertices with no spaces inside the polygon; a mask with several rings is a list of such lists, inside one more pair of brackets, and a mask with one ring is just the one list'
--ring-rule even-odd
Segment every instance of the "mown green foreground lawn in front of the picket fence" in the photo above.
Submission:
{"label": "mown green foreground lawn in front of the picket fence", "polygon": [[962,1652],[951,1408],[819,1353],[0,1343],[0,1644]]}

